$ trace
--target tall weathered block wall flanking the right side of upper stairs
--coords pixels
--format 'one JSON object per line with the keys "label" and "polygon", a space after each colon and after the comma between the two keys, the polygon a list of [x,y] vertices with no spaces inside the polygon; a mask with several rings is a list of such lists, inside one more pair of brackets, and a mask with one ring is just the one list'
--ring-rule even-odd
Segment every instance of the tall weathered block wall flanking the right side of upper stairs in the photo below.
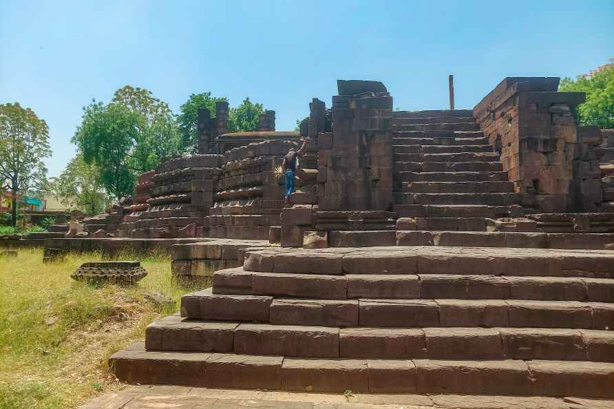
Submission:
{"label": "tall weathered block wall flanking the right side of upper stairs", "polygon": [[596,211],[602,203],[595,129],[578,127],[581,92],[557,92],[560,78],[505,78],[474,107],[523,205],[541,212]]}

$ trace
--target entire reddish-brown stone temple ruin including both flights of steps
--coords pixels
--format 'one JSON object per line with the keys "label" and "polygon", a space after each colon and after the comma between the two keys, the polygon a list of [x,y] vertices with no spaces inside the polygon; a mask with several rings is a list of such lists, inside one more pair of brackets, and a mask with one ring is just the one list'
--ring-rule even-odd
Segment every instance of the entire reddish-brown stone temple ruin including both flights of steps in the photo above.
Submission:
{"label": "entire reddish-brown stone temple ruin including both flights of steps", "polygon": [[[173,274],[212,279],[111,358],[118,378],[613,398],[614,134],[578,126],[584,94],[558,82],[399,112],[338,81],[298,133],[199,112],[199,153],[143,175],[114,237],[54,239],[170,247]],[[276,169],[306,136],[285,204]]]}

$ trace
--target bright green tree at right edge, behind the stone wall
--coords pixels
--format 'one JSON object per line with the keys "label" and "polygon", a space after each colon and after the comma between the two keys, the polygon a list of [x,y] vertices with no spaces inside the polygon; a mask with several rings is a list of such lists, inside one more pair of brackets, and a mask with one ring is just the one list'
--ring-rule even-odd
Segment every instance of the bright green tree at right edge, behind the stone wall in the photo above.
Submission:
{"label": "bright green tree at right edge, behind the stone wall", "polygon": [[586,92],[586,102],[576,111],[580,125],[614,128],[614,59],[575,80],[563,78],[559,90]]}

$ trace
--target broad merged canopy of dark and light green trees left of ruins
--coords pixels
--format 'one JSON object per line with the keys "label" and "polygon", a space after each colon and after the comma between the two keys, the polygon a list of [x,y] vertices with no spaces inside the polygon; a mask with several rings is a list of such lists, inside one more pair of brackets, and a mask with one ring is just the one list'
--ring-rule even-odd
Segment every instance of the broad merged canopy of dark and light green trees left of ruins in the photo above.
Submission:
{"label": "broad merged canopy of dark and light green trees left of ruins", "polygon": [[134,193],[136,176],[183,151],[169,105],[149,90],[126,85],[107,105],[94,101],[83,111],[72,141],[117,199]]}

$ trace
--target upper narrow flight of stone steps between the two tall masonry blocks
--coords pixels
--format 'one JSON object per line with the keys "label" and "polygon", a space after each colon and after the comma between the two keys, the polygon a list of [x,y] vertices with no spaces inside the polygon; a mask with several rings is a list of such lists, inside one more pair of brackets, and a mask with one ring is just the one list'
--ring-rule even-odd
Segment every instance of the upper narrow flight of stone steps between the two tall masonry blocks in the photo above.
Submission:
{"label": "upper narrow flight of stone steps between the two tall masonry blocks", "polygon": [[485,231],[522,214],[498,153],[471,110],[394,112],[394,210],[419,230]]}

